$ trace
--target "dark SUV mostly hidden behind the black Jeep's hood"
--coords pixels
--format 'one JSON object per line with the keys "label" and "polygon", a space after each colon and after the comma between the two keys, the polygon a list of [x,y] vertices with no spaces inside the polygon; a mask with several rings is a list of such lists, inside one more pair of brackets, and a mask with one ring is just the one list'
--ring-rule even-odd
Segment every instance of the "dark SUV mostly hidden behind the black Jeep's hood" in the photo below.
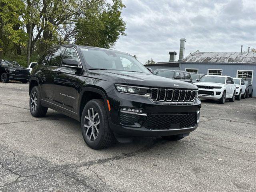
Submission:
{"label": "dark SUV mostly hidden behind the black Jeep's hood", "polygon": [[154,70],[153,75],[192,83],[190,73],[186,71],[157,69],[157,70]]}

